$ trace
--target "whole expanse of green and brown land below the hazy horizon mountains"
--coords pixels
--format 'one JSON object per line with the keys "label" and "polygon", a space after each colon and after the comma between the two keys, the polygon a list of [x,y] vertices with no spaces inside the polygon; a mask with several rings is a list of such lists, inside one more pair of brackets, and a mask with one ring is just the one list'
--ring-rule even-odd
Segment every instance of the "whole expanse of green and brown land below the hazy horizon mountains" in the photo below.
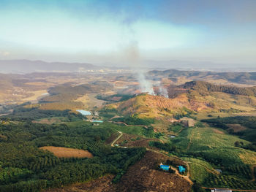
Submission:
{"label": "whole expanse of green and brown land below the hazy horizon mountains", "polygon": [[254,191],[255,74],[144,76],[1,76],[0,191]]}

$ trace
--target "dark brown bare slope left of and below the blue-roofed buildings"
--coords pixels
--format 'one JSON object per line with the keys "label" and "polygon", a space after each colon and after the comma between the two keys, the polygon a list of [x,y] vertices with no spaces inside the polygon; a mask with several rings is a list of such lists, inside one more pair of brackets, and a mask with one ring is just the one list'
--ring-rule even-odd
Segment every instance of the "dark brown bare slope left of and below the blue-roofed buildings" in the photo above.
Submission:
{"label": "dark brown bare slope left of and below the blue-roofed buildings", "polygon": [[165,155],[147,151],[144,158],[129,167],[120,183],[113,186],[111,191],[190,191],[187,180],[177,174],[155,169],[159,161],[165,162],[167,158]]}

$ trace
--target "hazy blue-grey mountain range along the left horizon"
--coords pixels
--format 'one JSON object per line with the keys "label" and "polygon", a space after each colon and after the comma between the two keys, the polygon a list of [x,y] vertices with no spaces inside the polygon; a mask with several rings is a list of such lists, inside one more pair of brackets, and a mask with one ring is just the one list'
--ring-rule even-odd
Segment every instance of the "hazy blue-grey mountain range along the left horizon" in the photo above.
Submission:
{"label": "hazy blue-grey mountain range along the left horizon", "polygon": [[92,64],[45,62],[30,60],[0,60],[0,72],[31,73],[31,72],[86,72],[88,70],[107,69]]}

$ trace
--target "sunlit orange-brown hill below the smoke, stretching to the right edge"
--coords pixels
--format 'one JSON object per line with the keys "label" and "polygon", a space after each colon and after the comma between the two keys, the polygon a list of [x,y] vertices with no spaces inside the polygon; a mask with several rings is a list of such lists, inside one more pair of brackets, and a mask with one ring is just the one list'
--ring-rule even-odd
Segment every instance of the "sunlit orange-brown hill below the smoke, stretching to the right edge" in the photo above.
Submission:
{"label": "sunlit orange-brown hill below the smoke, stretching to the right edge", "polygon": [[255,87],[238,88],[192,81],[169,86],[168,95],[170,98],[140,94],[107,108],[140,118],[176,118],[195,112],[249,112],[256,106]]}

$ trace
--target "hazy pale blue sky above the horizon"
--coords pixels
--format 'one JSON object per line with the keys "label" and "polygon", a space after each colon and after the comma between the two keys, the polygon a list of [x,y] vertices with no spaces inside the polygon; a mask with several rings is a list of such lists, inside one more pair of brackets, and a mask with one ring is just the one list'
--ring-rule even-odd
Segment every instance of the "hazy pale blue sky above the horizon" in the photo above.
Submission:
{"label": "hazy pale blue sky above the horizon", "polygon": [[256,64],[256,0],[0,0],[0,59]]}

